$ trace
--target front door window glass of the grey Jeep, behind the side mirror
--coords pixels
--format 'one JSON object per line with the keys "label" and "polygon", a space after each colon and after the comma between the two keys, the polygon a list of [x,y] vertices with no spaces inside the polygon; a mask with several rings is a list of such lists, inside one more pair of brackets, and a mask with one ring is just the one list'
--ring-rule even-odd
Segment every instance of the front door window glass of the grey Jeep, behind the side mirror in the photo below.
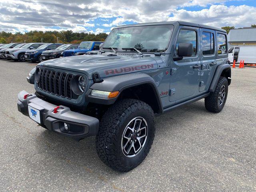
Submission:
{"label": "front door window glass of the grey Jeep, behind the side mirror", "polygon": [[196,31],[194,30],[180,30],[178,40],[176,43],[176,54],[178,55],[178,47],[180,43],[192,43],[193,44],[193,53],[192,56],[196,55],[196,49],[197,49],[197,44],[196,41]]}

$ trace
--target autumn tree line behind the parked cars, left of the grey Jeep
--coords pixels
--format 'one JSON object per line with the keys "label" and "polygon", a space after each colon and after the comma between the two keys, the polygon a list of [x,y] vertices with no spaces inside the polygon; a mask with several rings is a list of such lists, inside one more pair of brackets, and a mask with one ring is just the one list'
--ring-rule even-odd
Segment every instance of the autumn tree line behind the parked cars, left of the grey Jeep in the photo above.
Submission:
{"label": "autumn tree line behind the parked cars, left of the grey Jeep", "polygon": [[[84,33],[84,32],[73,32],[72,30],[67,31],[30,31],[22,34],[16,32],[12,34],[10,32],[0,32],[0,43],[11,43],[11,42],[49,42],[57,43],[57,37],[59,43],[80,43],[82,41],[104,41],[108,34],[106,33]],[[42,40],[43,39],[43,40]]]}

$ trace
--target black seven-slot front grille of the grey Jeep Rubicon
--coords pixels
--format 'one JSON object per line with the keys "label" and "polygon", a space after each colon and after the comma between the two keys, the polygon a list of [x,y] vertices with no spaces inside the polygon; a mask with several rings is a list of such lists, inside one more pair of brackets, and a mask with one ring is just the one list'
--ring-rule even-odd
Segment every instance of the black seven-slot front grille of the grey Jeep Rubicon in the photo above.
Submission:
{"label": "black seven-slot front grille of the grey Jeep Rubicon", "polygon": [[41,68],[38,88],[44,92],[72,99],[76,97],[71,89],[71,81],[73,77],[74,75],[72,74]]}

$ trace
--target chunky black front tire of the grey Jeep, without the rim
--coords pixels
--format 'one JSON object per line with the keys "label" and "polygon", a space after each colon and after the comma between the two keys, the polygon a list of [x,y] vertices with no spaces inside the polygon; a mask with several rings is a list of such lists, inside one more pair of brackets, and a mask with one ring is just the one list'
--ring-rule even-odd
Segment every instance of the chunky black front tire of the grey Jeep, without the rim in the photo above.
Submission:
{"label": "chunky black front tire of the grey Jeep, without the rim", "polygon": [[[121,147],[123,132],[135,117],[142,117],[148,124],[146,142],[134,157],[124,155]],[[110,168],[128,172],[136,168],[147,156],[155,136],[155,120],[152,108],[139,100],[124,99],[111,106],[100,120],[96,135],[96,148],[100,159]]]}

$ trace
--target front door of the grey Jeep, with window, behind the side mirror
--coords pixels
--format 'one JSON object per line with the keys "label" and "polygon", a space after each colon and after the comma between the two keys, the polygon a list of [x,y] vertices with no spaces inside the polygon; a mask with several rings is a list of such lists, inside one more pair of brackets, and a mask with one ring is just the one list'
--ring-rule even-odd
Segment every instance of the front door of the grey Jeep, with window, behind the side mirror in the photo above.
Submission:
{"label": "front door of the grey Jeep, with window, behind the side mirror", "polygon": [[181,26],[176,41],[174,56],[178,56],[179,43],[192,43],[193,54],[171,63],[170,102],[182,102],[199,94],[200,80],[200,30],[196,27]]}

